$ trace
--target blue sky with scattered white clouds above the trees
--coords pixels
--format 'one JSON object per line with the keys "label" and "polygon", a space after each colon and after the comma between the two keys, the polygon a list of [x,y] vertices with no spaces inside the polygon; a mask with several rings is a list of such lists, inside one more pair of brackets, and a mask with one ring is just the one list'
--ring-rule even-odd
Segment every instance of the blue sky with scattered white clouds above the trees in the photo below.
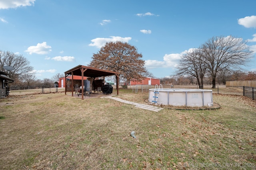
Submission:
{"label": "blue sky with scattered white clouds above the trees", "polygon": [[[184,51],[214,36],[242,38],[256,52],[255,7],[256,0],[0,0],[0,50],[22,54],[44,79],[86,66],[119,40],[163,78]],[[245,69],[256,70],[255,57]]]}

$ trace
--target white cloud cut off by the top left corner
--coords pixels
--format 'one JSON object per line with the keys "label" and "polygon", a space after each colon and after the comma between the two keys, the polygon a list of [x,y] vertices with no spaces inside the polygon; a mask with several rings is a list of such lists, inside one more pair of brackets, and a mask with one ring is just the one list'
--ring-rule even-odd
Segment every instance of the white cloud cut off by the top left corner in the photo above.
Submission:
{"label": "white cloud cut off by the top left corner", "polygon": [[34,5],[36,0],[0,0],[0,9],[18,8]]}

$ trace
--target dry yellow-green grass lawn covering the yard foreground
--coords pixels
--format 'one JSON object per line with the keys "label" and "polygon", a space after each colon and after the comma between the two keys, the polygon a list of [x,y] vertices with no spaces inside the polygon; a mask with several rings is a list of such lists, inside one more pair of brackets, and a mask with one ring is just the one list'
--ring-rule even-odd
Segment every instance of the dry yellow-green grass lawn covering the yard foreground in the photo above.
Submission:
{"label": "dry yellow-green grass lawn covering the yard foreground", "polygon": [[[119,93],[132,102],[148,98]],[[256,169],[256,102],[213,98],[220,109],[159,112],[64,93],[1,99],[11,105],[0,106],[0,169]]]}

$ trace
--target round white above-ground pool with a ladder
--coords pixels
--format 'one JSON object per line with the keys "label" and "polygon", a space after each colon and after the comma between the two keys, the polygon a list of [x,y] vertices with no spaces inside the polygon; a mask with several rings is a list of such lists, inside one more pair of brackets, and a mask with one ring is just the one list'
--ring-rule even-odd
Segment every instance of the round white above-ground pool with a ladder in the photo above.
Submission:
{"label": "round white above-ground pool with a ladder", "polygon": [[212,90],[156,88],[149,89],[148,102],[152,104],[202,107],[213,106]]}

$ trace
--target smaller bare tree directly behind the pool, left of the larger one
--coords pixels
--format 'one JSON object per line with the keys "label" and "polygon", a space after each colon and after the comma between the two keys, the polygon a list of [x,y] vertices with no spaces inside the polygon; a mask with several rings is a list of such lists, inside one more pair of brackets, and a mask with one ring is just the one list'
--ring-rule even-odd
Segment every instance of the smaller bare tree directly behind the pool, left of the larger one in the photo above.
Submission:
{"label": "smaller bare tree directly behind the pool, left of the larger one", "polygon": [[192,49],[182,55],[177,69],[177,75],[193,76],[196,78],[199,88],[204,88],[203,78],[206,74],[206,65],[200,49]]}

